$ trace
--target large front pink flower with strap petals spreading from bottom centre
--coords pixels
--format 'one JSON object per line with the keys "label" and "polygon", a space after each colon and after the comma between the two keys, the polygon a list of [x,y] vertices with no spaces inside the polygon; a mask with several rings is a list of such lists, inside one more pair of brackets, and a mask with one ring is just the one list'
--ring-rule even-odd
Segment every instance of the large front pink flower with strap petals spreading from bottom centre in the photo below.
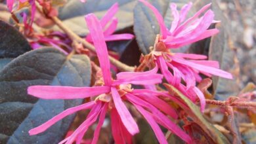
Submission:
{"label": "large front pink flower with strap petals spreading from bottom centre", "polygon": [[[98,126],[92,143],[96,143],[100,128],[104,122],[105,115],[110,110],[112,120],[112,134],[116,143],[132,143],[131,136],[139,132],[139,128],[129,113],[124,102],[131,103],[148,121],[154,130],[160,143],[167,143],[165,135],[161,132],[161,126],[167,128],[173,134],[178,135],[190,143],[192,140],[188,134],[183,132],[179,126],[172,122],[169,117],[177,118],[176,111],[158,96],[170,97],[164,92],[154,92],[152,90],[133,90],[131,84],[158,84],[163,78],[158,74],[158,67],[146,72],[123,72],[117,74],[117,79],[113,80],[110,73],[110,61],[108,59],[108,50],[104,41],[104,34],[100,21],[94,14],[85,16],[87,26],[91,32],[91,38],[95,45],[96,54],[100,62],[102,79],[98,79],[93,87],[72,87],[72,86],[30,86],[28,94],[43,99],[76,99],[93,98],[95,101],[72,107],[56,115],[41,126],[30,130],[30,135],[44,132],[56,123],[58,120],[80,111],[91,109],[86,120],[74,131],[72,135],[66,137],[60,143],[81,142],[83,135],[87,132],[89,126],[98,120]],[[168,117],[169,116],[169,117]]]}

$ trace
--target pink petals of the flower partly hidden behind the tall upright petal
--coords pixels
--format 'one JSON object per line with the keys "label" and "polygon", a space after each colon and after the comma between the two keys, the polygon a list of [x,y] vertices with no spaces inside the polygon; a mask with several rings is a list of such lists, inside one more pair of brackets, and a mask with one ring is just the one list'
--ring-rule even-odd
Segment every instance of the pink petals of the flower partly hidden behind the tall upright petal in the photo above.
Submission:
{"label": "pink petals of the flower partly hidden behind the tall upright petal", "polygon": [[[129,33],[122,34],[113,34],[116,31],[118,20],[115,14],[118,11],[118,3],[115,3],[108,9],[106,14],[101,18],[100,25],[104,30],[104,40],[105,41],[120,41],[120,40],[129,40],[133,39],[134,35]],[[91,38],[91,34],[89,33],[85,38],[86,41],[93,42]]]}

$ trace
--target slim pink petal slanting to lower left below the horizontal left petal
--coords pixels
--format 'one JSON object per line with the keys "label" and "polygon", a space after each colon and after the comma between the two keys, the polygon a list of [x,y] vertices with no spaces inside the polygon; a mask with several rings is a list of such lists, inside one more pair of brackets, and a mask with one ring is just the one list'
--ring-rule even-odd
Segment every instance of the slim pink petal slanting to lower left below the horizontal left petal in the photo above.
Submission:
{"label": "slim pink petal slanting to lower left below the horizontal left petal", "polygon": [[77,107],[72,107],[70,109],[66,109],[62,113],[60,113],[60,114],[56,115],[55,117],[51,118],[51,120],[48,120],[44,124],[41,124],[41,126],[37,126],[36,128],[33,128],[32,130],[30,130],[29,134],[30,135],[35,135],[35,134],[39,134],[41,132],[45,132],[45,130],[47,130],[50,126],[53,126],[53,124],[58,122],[58,120],[61,120],[62,118],[66,117],[68,115],[72,115],[76,111],[80,111],[82,109],[90,109],[91,107],[93,107],[93,105],[95,105],[95,101],[91,101],[89,103],[85,103],[85,104],[79,105]]}

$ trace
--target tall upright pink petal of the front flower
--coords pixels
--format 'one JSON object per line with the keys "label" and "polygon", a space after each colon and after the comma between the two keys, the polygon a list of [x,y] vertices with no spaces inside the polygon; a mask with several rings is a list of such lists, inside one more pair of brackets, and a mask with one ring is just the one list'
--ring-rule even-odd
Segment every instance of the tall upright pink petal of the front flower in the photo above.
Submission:
{"label": "tall upright pink petal of the front flower", "polygon": [[108,59],[108,48],[104,41],[102,26],[94,14],[87,14],[85,20],[91,33],[91,38],[93,39],[93,45],[95,45],[98,60],[100,61],[100,68],[105,85],[110,86],[112,82],[110,60]]}

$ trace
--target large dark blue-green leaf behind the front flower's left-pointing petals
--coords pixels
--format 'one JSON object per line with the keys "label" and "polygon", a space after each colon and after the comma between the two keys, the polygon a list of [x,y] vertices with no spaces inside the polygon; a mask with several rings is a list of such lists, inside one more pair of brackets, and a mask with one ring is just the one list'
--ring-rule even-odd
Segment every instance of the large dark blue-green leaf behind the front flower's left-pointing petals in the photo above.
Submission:
{"label": "large dark blue-green leaf behind the front flower's left-pointing petals", "polygon": [[58,143],[75,115],[60,120],[39,135],[30,136],[28,130],[64,109],[81,104],[83,99],[37,99],[27,94],[28,86],[90,84],[91,63],[85,55],[67,57],[56,48],[39,48],[18,56],[0,71],[0,142]]}

